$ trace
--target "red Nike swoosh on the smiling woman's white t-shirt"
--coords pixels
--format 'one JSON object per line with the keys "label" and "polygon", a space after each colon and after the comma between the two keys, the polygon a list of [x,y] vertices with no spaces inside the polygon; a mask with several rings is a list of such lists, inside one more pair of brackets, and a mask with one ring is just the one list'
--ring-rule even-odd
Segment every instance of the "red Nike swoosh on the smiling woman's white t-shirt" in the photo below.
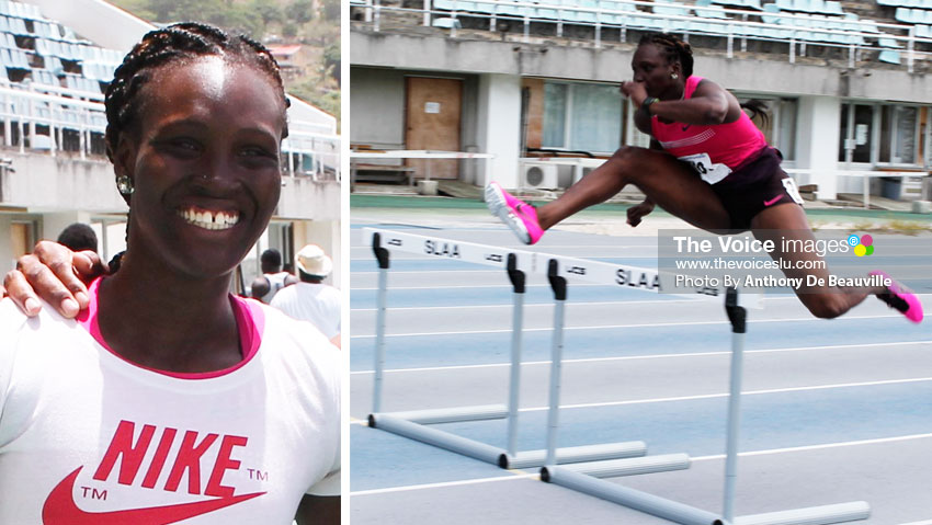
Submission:
{"label": "red Nike swoosh on the smiling woman's white t-shirt", "polygon": [[45,505],[42,507],[42,523],[44,525],[121,525],[127,523],[136,525],[168,525],[242,503],[265,493],[253,492],[251,494],[229,498],[216,498],[213,500],[150,506],[146,509],[129,509],[126,511],[84,512],[78,509],[72,495],[75,480],[78,479],[78,473],[82,468],[78,467],[77,470],[55,486],[55,489],[48,494]]}

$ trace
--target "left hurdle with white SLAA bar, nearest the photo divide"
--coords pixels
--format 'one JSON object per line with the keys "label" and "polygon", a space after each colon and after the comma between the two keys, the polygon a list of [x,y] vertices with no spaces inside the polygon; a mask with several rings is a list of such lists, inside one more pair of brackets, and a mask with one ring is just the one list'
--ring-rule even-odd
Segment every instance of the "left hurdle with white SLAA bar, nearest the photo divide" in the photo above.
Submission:
{"label": "left hurdle with white SLAA bar, nearest the photo divide", "polygon": [[[546,464],[569,464],[582,461],[600,461],[621,458],[637,458],[647,454],[647,445],[644,442],[621,442],[609,444],[582,445],[564,447],[553,450],[516,450],[518,411],[519,411],[519,387],[521,374],[521,346],[523,330],[523,307],[525,293],[525,274],[527,271],[545,273],[539,266],[539,254],[521,250],[503,250],[498,247],[482,246],[464,241],[453,241],[394,230],[378,230],[364,228],[376,256],[379,267],[377,312],[376,312],[376,351],[375,351],[375,381],[373,391],[373,413],[368,415],[368,424],[411,440],[420,441],[429,445],[444,448],[462,454],[481,461],[498,465],[501,468],[531,468],[542,467]],[[480,406],[459,407],[450,409],[414,410],[405,412],[380,412],[383,374],[385,366],[385,316],[387,309],[387,273],[390,267],[391,250],[436,255],[444,259],[470,262],[504,270],[512,284],[512,341],[511,364],[509,380],[509,404],[504,406]],[[564,297],[565,300],[565,297]],[[561,304],[561,303],[560,303]],[[561,306],[558,307],[561,310]],[[561,330],[561,328],[560,328]],[[555,362],[559,361],[557,356]],[[557,363],[557,366],[559,364]],[[559,375],[552,374],[552,389],[559,389]],[[558,408],[556,409],[558,410]],[[550,408],[552,415],[556,418]],[[451,423],[463,421],[482,421],[507,419],[508,435],[507,449],[495,447],[485,443],[468,440],[448,432],[427,426],[433,423]],[[653,459],[653,469],[660,469],[661,465]],[[678,457],[673,464],[674,468],[685,468],[682,457]],[[647,468],[644,466],[641,468]]]}

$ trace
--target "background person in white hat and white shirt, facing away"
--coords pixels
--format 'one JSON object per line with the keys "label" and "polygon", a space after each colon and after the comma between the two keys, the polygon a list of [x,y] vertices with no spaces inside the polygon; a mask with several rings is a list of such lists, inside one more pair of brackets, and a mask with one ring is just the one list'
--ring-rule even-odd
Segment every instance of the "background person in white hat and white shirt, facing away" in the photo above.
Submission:
{"label": "background person in white hat and white shirt, facing away", "polygon": [[322,283],[333,262],[317,244],[308,244],[295,256],[300,282],[275,294],[271,305],[289,317],[310,321],[328,339],[340,333],[340,290]]}

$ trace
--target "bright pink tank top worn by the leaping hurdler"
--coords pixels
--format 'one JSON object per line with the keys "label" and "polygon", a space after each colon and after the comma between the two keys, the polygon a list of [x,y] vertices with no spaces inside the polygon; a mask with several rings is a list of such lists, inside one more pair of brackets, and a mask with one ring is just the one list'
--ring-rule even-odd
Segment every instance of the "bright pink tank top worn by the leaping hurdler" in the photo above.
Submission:
{"label": "bright pink tank top worn by the leaping hurdler", "polygon": [[[683,99],[690,99],[702,80],[702,77],[695,76],[687,78]],[[664,124],[655,115],[650,119],[650,128],[653,138],[675,157],[706,153],[713,163],[725,164],[732,170],[766,146],[763,133],[743,111],[730,124],[712,126],[679,122]]]}

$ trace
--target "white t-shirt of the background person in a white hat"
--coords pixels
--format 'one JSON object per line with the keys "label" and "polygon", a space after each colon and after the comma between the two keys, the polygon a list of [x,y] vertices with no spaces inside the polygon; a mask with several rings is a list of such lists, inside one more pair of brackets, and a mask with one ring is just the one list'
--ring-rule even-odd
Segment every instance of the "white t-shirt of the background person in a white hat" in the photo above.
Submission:
{"label": "white t-shirt of the background person in a white hat", "polygon": [[322,283],[297,283],[275,295],[272,306],[294,319],[310,321],[332,339],[340,333],[340,290]]}

